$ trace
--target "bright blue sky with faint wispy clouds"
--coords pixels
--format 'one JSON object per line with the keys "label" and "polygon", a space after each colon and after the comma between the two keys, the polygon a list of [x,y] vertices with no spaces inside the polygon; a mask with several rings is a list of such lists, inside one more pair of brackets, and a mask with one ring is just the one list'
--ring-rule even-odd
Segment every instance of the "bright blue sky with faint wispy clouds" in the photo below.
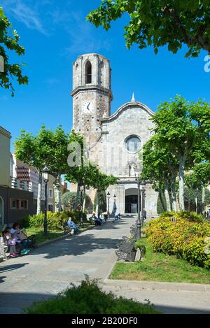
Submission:
{"label": "bright blue sky with faint wispy clouds", "polygon": [[[85,16],[99,0],[0,0],[13,27],[20,34],[26,54],[13,61],[27,63],[28,86],[15,85],[15,97],[0,89],[0,125],[11,132],[12,143],[20,129],[36,133],[45,123],[55,129],[72,126],[72,62],[78,55],[97,52],[111,61],[112,113],[130,101],[156,110],[161,101],[182,94],[188,100],[210,101],[210,73],[204,72],[202,52],[186,59],[183,48],[173,55],[167,47],[155,55],[153,48],[125,48],[123,27],[127,17],[113,22],[110,31],[96,29]],[[12,148],[13,149],[13,148]]]}

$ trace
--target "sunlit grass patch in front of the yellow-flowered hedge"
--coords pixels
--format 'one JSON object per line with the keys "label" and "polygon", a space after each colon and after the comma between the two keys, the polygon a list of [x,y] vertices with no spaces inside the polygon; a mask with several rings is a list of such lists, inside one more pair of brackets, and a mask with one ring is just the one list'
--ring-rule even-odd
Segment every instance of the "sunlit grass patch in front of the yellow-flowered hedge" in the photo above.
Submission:
{"label": "sunlit grass patch in front of the yellow-flowered hedge", "polygon": [[117,262],[110,279],[152,280],[171,283],[210,284],[210,270],[192,266],[174,255],[153,252],[147,238],[141,238],[146,255],[141,262]]}

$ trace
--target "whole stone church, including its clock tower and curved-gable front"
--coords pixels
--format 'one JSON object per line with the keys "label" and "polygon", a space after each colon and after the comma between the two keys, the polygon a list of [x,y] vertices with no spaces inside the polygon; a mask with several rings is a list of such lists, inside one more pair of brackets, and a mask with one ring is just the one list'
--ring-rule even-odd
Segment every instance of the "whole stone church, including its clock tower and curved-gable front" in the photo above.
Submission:
{"label": "whole stone church, including its clock tower and curved-gable front", "polygon": [[[98,54],[81,55],[73,62],[73,129],[85,136],[89,158],[106,174],[118,177],[109,187],[110,210],[116,194],[120,213],[137,213],[137,182],[134,168],[142,169],[139,152],[151,137],[153,112],[134,99],[111,115],[111,67]],[[72,186],[73,190],[76,186]],[[95,190],[87,191],[94,199]],[[157,215],[158,194],[146,184],[144,208]]]}

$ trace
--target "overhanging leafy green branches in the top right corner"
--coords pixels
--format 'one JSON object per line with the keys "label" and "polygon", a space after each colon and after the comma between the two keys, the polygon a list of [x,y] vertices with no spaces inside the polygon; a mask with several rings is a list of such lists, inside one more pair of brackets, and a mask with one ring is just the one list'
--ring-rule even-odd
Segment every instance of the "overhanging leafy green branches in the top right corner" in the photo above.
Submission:
{"label": "overhanging leafy green branches in the top right corner", "polygon": [[102,0],[101,6],[87,15],[96,27],[111,28],[111,21],[127,14],[127,48],[136,43],[140,49],[153,45],[155,53],[163,45],[176,53],[188,46],[186,57],[210,52],[210,3],[200,0]]}

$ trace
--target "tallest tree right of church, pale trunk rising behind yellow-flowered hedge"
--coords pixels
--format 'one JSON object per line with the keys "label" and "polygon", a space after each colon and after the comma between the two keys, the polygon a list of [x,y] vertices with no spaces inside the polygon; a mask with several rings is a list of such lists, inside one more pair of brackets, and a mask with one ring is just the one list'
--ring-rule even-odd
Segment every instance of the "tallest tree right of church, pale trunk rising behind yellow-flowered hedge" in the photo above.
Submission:
{"label": "tallest tree right of church, pale trunk rising behind yellow-flowered hedge", "polygon": [[[209,150],[209,132],[204,124],[198,124],[203,104],[201,101],[188,102],[181,96],[165,101],[152,118],[153,131],[159,136],[160,147],[168,148],[179,162],[179,206],[184,209],[184,173],[195,163],[207,158]],[[193,108],[193,110],[192,110]],[[195,115],[197,113],[197,120]],[[207,106],[210,113],[210,107]]]}

